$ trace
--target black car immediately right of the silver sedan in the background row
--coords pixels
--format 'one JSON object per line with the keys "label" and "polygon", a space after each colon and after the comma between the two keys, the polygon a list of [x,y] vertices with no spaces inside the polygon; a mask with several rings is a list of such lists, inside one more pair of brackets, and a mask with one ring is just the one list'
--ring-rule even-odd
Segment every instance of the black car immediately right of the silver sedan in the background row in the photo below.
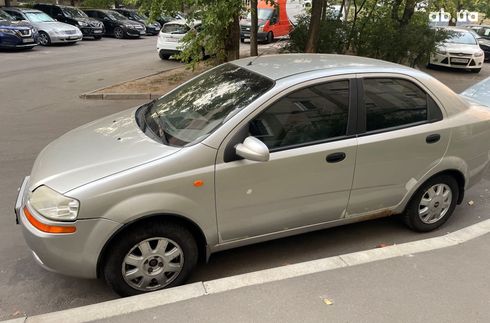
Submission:
{"label": "black car immediately right of the silver sedan in the background row", "polygon": [[90,18],[76,7],[38,3],[34,5],[34,8],[45,12],[58,21],[78,27],[82,31],[83,37],[101,39],[105,33],[103,23]]}

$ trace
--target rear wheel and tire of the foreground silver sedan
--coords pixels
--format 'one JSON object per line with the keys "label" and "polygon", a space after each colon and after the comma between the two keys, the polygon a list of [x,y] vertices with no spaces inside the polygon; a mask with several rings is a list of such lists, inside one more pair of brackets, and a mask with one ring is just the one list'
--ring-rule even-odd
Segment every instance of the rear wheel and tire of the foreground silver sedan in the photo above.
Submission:
{"label": "rear wheel and tire of the foreground silver sedan", "polygon": [[453,214],[458,198],[459,187],[454,177],[433,177],[412,196],[403,217],[405,224],[418,232],[435,230]]}

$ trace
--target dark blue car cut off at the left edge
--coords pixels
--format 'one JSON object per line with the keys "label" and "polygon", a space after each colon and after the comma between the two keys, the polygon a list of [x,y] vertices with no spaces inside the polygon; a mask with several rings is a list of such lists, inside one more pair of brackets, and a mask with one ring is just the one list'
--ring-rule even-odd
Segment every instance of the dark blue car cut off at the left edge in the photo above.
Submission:
{"label": "dark blue car cut off at the left edge", "polygon": [[0,10],[0,48],[26,48],[37,46],[38,32],[31,24],[15,19]]}

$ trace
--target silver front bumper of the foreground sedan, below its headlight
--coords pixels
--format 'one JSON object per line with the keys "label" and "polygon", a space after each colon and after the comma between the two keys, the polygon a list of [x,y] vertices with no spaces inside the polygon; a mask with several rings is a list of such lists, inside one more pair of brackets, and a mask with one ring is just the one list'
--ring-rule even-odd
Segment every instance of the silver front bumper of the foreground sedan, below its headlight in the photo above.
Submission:
{"label": "silver front bumper of the foreground sedan, below its headlight", "polygon": [[[75,222],[50,221],[38,214],[26,201],[28,178],[19,190],[15,204],[16,218],[22,225],[24,239],[34,259],[45,269],[60,274],[96,278],[97,262],[102,248],[121,224],[107,219],[83,219]],[[34,227],[23,212],[27,207],[31,215],[48,225],[71,225],[75,233],[45,233]]]}

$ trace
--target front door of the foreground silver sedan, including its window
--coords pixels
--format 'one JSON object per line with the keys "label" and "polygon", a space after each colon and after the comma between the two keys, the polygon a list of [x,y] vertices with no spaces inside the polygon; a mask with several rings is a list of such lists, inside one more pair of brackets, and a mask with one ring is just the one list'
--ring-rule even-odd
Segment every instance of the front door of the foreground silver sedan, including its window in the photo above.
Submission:
{"label": "front door of the foreground silver sedan, including its window", "polygon": [[[220,242],[341,218],[356,160],[353,79],[291,90],[258,109],[233,136],[254,136],[267,162],[218,154],[216,208]],[[236,138],[236,137],[235,137]],[[225,140],[226,141],[226,140]],[[234,151],[234,141],[222,150]],[[235,156],[235,155],[233,155]]]}

